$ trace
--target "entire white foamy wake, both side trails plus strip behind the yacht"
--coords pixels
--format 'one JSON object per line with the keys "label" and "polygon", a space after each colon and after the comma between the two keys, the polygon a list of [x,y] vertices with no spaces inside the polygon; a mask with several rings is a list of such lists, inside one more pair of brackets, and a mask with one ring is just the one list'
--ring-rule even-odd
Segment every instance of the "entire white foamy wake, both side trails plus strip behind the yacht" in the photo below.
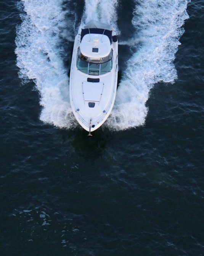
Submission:
{"label": "entire white foamy wake, both side trails plus strip behind the yacht", "polygon": [[[17,27],[16,55],[22,80],[34,80],[40,93],[40,119],[60,128],[76,126],[69,103],[69,79],[64,67],[65,35],[69,28],[63,0],[22,0],[25,13]],[[149,90],[159,81],[177,78],[173,65],[183,33],[187,0],[135,0],[132,24],[135,34],[128,43],[134,54],[122,70],[116,102],[106,121],[109,129],[122,130],[145,123]],[[117,29],[117,0],[85,0],[83,19],[108,22]],[[124,18],[123,18],[124,19]],[[73,28],[72,28],[73,29]],[[127,28],[128,29],[128,28]],[[71,40],[74,36],[71,37]]]}

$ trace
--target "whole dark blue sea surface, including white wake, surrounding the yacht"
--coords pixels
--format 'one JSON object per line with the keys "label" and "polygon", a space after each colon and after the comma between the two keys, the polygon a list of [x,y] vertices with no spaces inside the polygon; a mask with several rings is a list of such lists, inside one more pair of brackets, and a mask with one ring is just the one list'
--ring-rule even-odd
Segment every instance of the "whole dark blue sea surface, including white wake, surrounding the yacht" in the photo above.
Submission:
{"label": "whole dark blue sea surface, including white wake, surrounding the yacht", "polygon": [[[170,2],[0,3],[0,255],[204,255],[204,1]],[[91,138],[67,75],[90,16],[120,43]]]}

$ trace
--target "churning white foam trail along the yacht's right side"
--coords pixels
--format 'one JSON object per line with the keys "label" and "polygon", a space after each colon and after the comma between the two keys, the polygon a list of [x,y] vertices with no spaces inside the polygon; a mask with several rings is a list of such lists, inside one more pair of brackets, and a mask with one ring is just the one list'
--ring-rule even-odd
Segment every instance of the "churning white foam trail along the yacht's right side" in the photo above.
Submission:
{"label": "churning white foam trail along the yacht's right side", "polygon": [[[181,27],[188,18],[187,3],[185,0],[141,0],[135,6],[132,20],[137,29],[135,53],[123,70],[116,102],[108,119],[112,129],[143,125],[150,89],[157,82],[173,83],[177,78],[173,60],[183,33]],[[131,46],[133,41],[130,40]]]}

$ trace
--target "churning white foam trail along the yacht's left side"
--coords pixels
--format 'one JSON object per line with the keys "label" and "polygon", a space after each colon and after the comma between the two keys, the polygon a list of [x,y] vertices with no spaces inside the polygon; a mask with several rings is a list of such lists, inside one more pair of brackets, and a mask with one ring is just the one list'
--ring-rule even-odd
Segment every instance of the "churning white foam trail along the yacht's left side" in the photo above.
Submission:
{"label": "churning white foam trail along the yacht's left side", "polygon": [[40,93],[43,122],[71,127],[73,114],[69,103],[69,80],[64,67],[61,40],[66,33],[66,12],[56,0],[23,0],[25,13],[17,27],[16,55],[22,80],[34,80]]}

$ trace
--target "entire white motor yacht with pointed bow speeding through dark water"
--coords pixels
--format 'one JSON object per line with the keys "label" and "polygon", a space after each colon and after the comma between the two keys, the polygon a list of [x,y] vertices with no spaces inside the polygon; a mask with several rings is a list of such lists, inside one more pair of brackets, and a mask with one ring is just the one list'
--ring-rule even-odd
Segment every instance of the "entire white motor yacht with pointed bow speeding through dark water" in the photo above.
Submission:
{"label": "entire white motor yacht with pointed bow speeding through dark water", "polygon": [[111,113],[117,73],[116,31],[109,24],[93,20],[81,25],[74,41],[69,95],[74,116],[88,135]]}

